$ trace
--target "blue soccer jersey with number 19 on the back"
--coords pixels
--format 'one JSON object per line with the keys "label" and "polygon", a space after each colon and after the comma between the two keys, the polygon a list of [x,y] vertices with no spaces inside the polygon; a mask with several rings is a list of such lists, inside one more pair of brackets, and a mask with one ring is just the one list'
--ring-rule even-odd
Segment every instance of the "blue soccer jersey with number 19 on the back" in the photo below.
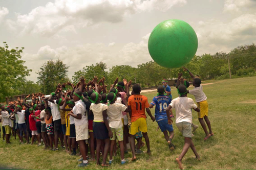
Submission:
{"label": "blue soccer jersey with number 19 on the back", "polygon": [[167,119],[166,109],[172,100],[166,95],[155,96],[151,102],[153,106],[156,105],[155,117],[156,122],[162,119]]}

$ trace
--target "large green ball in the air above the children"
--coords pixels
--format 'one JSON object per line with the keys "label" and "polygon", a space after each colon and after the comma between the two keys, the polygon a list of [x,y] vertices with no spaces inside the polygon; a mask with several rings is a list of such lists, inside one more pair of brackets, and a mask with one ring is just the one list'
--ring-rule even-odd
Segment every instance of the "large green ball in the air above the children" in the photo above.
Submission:
{"label": "large green ball in the air above the children", "polygon": [[154,28],[147,45],[156,63],[167,68],[179,68],[195,56],[198,39],[196,32],[187,22],[170,19]]}

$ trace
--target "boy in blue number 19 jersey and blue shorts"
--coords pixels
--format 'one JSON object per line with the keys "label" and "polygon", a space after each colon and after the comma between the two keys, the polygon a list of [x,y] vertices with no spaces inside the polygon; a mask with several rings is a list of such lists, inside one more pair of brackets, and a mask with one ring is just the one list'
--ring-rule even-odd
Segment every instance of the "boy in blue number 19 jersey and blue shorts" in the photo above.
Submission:
{"label": "boy in blue number 19 jersey and blue shorts", "polygon": [[[172,100],[169,98],[169,96],[164,95],[164,91],[165,90],[163,86],[158,86],[158,94],[153,98],[153,101],[150,103],[150,108],[156,106],[156,122],[160,127],[161,131],[163,132],[166,141],[168,142],[169,149],[173,151],[175,149],[175,146],[172,143],[172,139],[174,137],[174,129],[173,125],[168,124],[167,117],[170,116],[170,112],[166,112],[166,109]],[[167,131],[169,132],[169,135]]]}

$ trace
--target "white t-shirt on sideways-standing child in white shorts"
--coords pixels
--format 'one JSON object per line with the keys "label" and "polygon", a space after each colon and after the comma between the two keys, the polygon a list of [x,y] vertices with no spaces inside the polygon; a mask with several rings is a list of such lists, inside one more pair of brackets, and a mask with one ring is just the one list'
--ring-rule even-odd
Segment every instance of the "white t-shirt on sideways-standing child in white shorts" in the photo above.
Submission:
{"label": "white t-shirt on sideways-standing child in white shorts", "polygon": [[[74,114],[82,114],[81,119],[74,118],[75,126],[88,124],[88,118],[87,118],[88,114],[87,114],[87,110],[86,110],[86,104],[84,104],[82,102],[82,100],[75,102],[75,106],[73,107],[73,113]],[[72,117],[72,116],[70,116],[70,117]]]}

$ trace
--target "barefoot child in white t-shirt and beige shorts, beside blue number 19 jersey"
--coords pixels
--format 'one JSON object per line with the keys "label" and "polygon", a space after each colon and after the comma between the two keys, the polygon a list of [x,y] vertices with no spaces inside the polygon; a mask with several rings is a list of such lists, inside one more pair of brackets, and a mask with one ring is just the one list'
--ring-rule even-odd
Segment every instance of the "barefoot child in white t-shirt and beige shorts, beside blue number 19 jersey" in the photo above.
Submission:
{"label": "barefoot child in white t-shirt and beige shorts, beside blue number 19 jersey", "polygon": [[[197,159],[200,159],[195,145],[193,141],[191,141],[192,137],[192,112],[191,108],[193,108],[195,111],[200,112],[200,110],[197,108],[197,105],[194,103],[194,101],[190,98],[186,97],[186,87],[182,84],[178,87],[178,93],[180,96],[176,99],[174,99],[170,105],[166,109],[166,113],[169,112],[171,108],[174,108],[176,110],[176,126],[184,136],[185,144],[182,149],[182,152],[178,158],[176,158],[177,163],[179,164],[179,168],[183,169],[181,161],[182,158],[187,153],[189,147],[193,150],[194,154],[196,155]],[[170,117],[168,117],[168,123],[171,124],[172,120]]]}

